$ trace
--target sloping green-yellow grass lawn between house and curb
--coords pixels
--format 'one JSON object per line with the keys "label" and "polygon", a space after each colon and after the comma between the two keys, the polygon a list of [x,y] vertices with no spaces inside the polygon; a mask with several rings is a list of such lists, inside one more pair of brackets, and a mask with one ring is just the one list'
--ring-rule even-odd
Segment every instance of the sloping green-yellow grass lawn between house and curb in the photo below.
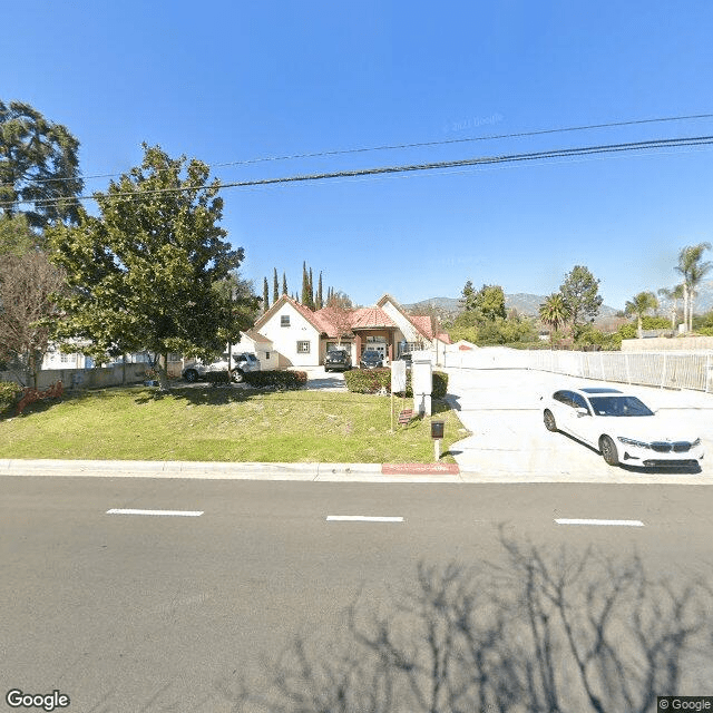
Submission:
{"label": "sloping green-yellow grass lawn between house and curb", "polygon": [[[407,401],[407,403],[409,403]],[[401,400],[397,400],[397,416]],[[410,404],[409,404],[410,408]],[[468,434],[440,401],[448,448]],[[430,419],[391,428],[390,399],[343,392],[145,387],[66,394],[0,421],[3,458],[430,462]]]}

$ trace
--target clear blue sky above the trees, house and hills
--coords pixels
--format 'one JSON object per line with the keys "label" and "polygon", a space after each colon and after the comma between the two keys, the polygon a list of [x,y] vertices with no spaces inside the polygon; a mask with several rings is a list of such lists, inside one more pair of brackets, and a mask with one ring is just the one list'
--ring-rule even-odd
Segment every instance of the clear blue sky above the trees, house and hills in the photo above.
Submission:
{"label": "clear blue sky above the trees, house and hills", "polygon": [[[211,165],[713,113],[713,4],[36,1],[3,32],[0,98],[65,124],[85,175],[141,141]],[[10,16],[8,16],[10,17]],[[6,18],[7,19],[7,18]],[[647,138],[713,121],[222,166],[243,180]],[[262,293],[302,262],[360,304],[548,294],[576,264],[605,304],[673,286],[713,241],[711,149],[227,188],[224,227]],[[87,191],[107,178],[87,179]]]}

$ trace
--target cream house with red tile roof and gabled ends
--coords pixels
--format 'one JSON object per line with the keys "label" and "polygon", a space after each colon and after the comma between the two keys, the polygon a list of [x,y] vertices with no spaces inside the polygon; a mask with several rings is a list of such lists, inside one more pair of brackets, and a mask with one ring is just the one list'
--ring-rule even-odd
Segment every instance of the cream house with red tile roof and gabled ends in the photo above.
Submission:
{"label": "cream house with red tile roof and gabled ends", "polygon": [[428,350],[438,363],[448,334],[434,331],[430,316],[413,316],[389,294],[374,306],[353,310],[310,310],[289,295],[282,295],[251,330],[270,343],[277,354],[277,367],[316,367],[326,352],[338,345],[351,352],[359,363],[365,349],[381,353],[384,360],[403,352]]}

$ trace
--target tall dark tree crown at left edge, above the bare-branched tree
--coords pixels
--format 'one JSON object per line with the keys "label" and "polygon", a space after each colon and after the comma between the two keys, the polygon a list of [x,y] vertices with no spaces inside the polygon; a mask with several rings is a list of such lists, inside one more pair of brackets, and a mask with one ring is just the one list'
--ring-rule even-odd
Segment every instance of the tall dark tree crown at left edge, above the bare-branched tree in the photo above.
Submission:
{"label": "tall dark tree crown at left edge, above the bare-branched tree", "polygon": [[23,212],[33,228],[57,221],[76,224],[76,197],[84,188],[78,150],[67,127],[29,104],[0,101],[0,209]]}

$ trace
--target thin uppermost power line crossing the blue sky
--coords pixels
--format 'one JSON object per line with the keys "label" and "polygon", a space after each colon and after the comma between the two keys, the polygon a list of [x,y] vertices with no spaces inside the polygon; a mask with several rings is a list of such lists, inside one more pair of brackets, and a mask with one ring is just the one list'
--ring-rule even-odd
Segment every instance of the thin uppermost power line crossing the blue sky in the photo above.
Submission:
{"label": "thin uppermost power line crossing the blue sky", "polygon": [[[603,128],[616,128],[624,126],[639,126],[644,124],[664,124],[671,121],[687,121],[695,119],[710,119],[713,118],[713,114],[690,114],[685,116],[668,116],[668,117],[657,117],[651,119],[629,119],[626,121],[608,121],[606,124],[588,124],[583,126],[567,126],[559,127],[554,129],[536,129],[533,131],[516,131],[511,134],[487,134],[484,136],[470,136],[462,138],[451,138],[451,139],[441,139],[438,141],[418,141],[413,144],[387,144],[382,146],[361,146],[356,148],[343,148],[343,149],[330,149],[322,152],[312,152],[312,153],[303,153],[303,154],[286,154],[284,156],[260,156],[255,158],[245,158],[242,160],[233,160],[225,162],[219,164],[211,164],[208,165],[208,169],[214,168],[225,168],[228,166],[248,166],[253,164],[267,163],[267,162],[279,162],[279,160],[293,160],[296,158],[319,158],[325,156],[344,156],[349,154],[365,154],[370,152],[383,152],[383,150],[400,150],[407,148],[426,148],[430,146],[448,146],[451,144],[467,144],[473,141],[490,141],[490,140],[499,140],[506,138],[526,138],[530,136],[545,136],[548,134],[566,134],[573,131],[587,131],[592,129],[603,129]],[[169,170],[169,169],[166,169]],[[121,176],[124,174],[94,174],[90,176],[79,176],[79,177],[56,177],[56,178],[41,178],[37,179],[33,183],[59,183],[66,180],[77,180],[78,178],[81,180],[89,180],[91,178],[114,178],[115,176]],[[0,187],[11,187],[13,184],[0,184]]]}

